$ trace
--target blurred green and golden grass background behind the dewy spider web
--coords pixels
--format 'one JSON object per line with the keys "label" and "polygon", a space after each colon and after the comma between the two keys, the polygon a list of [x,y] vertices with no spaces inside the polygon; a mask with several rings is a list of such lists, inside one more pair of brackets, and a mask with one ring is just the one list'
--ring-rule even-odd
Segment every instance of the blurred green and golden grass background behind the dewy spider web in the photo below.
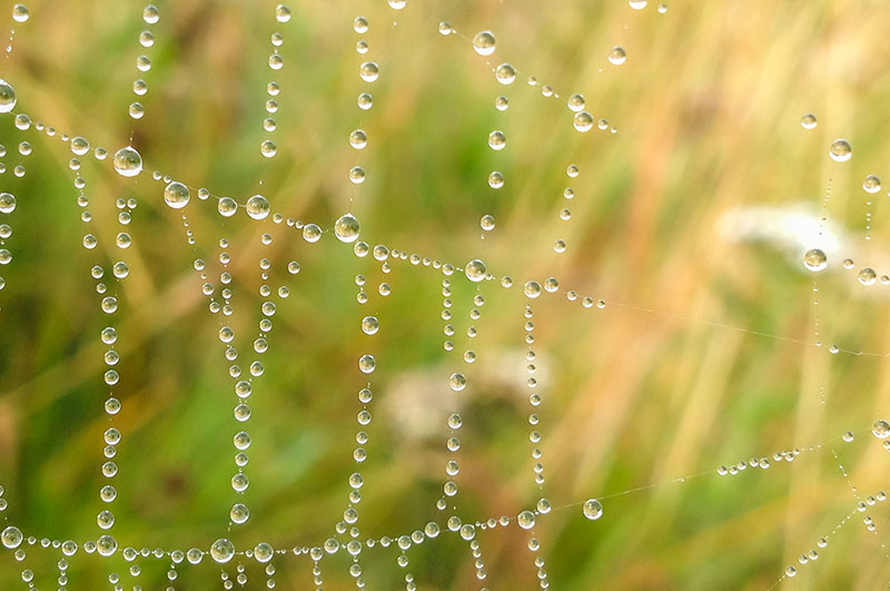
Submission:
{"label": "blurred green and golden grass background behind the dewy spider web", "polygon": [[[890,486],[890,456],[870,433],[877,418],[890,417],[888,287],[857,277],[863,267],[879,277],[890,273],[886,189],[862,189],[867,175],[890,179],[890,6],[288,4],[293,18],[279,23],[276,2],[265,0],[159,1],[155,46],[142,48],[142,3],[33,0],[30,19],[16,23],[12,2],[0,2],[3,30],[16,29],[0,67],[18,96],[14,112],[58,130],[22,131],[12,115],[0,117],[0,181],[18,200],[0,220],[12,228],[3,246],[13,256],[0,269],[6,522],[38,539],[95,540],[96,514],[105,509],[102,432],[113,424],[123,434],[113,479],[120,548],[207,550],[220,536],[238,550],[260,541],[319,545],[335,535],[347,479],[359,470],[356,394],[368,376],[356,361],[373,353],[373,421],[360,427],[369,435],[359,466],[362,539],[411,533],[429,521],[444,529],[452,514],[515,516],[542,496],[557,509],[533,531],[479,531],[483,581],[467,542],[451,533],[408,550],[407,568],[397,565],[395,545],[365,549],[368,589],[403,588],[408,573],[418,589],[534,589],[532,535],[556,589],[763,590],[792,564],[797,577],[781,587],[887,585],[887,503],[867,513],[856,503]],[[357,16],[369,21],[365,35],[353,30]],[[441,20],[461,35],[439,35]],[[485,29],[497,39],[487,58],[466,39]],[[284,68],[273,71],[276,31]],[[355,51],[359,39],[368,42],[366,56]],[[620,66],[607,60],[615,46],[626,51]],[[142,53],[150,71],[136,69]],[[365,60],[380,68],[372,85],[358,77]],[[492,72],[504,61],[520,71],[512,86]],[[530,76],[535,86],[526,83]],[[128,115],[137,78],[149,88],[139,99],[140,120]],[[277,130],[266,134],[273,79],[281,89]],[[544,85],[558,98],[543,96]],[[374,95],[365,112],[356,107],[362,91]],[[606,130],[573,128],[572,92],[584,93]],[[498,95],[510,99],[506,111],[495,109]],[[801,126],[808,112],[818,118],[813,129]],[[347,139],[359,126],[369,141],[357,159]],[[506,149],[488,148],[494,129],[505,132]],[[61,134],[85,136],[111,154],[132,138],[145,160],[139,177],[125,179],[111,158],[80,158],[89,225],[80,220]],[[269,135],[277,144],[271,159],[259,154]],[[851,142],[848,162],[829,158],[835,138]],[[30,155],[20,154],[21,141],[30,142]],[[354,186],[347,171],[357,161],[367,179]],[[577,178],[566,176],[568,164],[578,166]],[[21,177],[13,174],[19,165]],[[456,334],[446,352],[441,270],[390,260],[384,273],[330,233],[313,245],[271,216],[254,221],[240,210],[222,218],[215,199],[199,200],[196,190],[181,210],[196,239],[189,245],[181,213],[164,204],[164,183],[151,179],[155,170],[239,203],[261,193],[285,218],[323,228],[352,210],[370,245],[458,267],[478,257],[514,285],[449,277]],[[503,188],[488,187],[492,170],[504,174]],[[570,186],[571,201],[563,198]],[[120,198],[138,203],[126,228],[118,223]],[[568,221],[560,219],[564,207]],[[496,219],[492,232],[481,229],[483,215]],[[123,229],[132,237],[126,250],[115,244]],[[87,232],[97,236],[96,249],[82,247]],[[261,244],[264,233],[271,244]],[[221,238],[234,277],[228,318],[208,312],[192,268],[196,258],[206,260],[219,301]],[[556,239],[566,242],[565,253],[554,252]],[[802,265],[814,246],[828,254],[819,274]],[[250,487],[236,495],[231,441],[241,425],[233,418],[234,381],[217,333],[235,328],[246,372],[265,299],[263,257],[271,262],[267,283],[277,313],[260,355],[265,375],[254,380],[249,400]],[[119,259],[130,268],[121,282],[110,274]],[[288,274],[290,260],[300,264],[298,275]],[[102,410],[109,387],[99,334],[109,316],[100,311],[93,265],[120,301],[111,322],[121,356],[113,392],[122,410],[113,421]],[[369,297],[364,305],[356,303],[359,274]],[[534,410],[546,479],[538,487],[522,284],[550,276],[560,289],[531,302],[535,392],[544,401]],[[392,287],[386,297],[378,294],[382,282]],[[275,295],[279,286],[290,296]],[[577,301],[566,298],[570,289]],[[476,294],[485,304],[471,321]],[[585,308],[583,296],[605,307]],[[368,314],[380,321],[374,336],[359,329]],[[472,339],[469,326],[478,332]],[[832,344],[843,351],[832,355]],[[472,365],[462,359],[467,348],[477,354]],[[468,381],[459,393],[447,387],[457,371]],[[445,446],[453,412],[464,421],[457,454]],[[849,443],[840,439],[847,430],[854,432]],[[794,447],[803,452],[793,462],[772,461]],[[719,465],[752,456],[773,465],[716,474]],[[438,511],[451,459],[459,463],[459,492]],[[699,473],[705,474],[672,482]],[[609,496],[651,483],[660,484]],[[229,509],[240,496],[250,520],[229,530]],[[584,519],[577,504],[589,498],[605,498],[597,521]],[[866,514],[877,534],[863,525]],[[817,550],[817,540],[844,519],[828,546],[818,548],[818,561],[801,565],[798,556]],[[24,587],[23,569],[36,573],[37,587],[57,587],[61,554],[23,548],[21,562],[0,553],[0,588]],[[111,588],[109,573],[120,574],[125,588],[221,585],[220,565],[209,559],[180,567],[172,583],[169,559],[139,558],[137,577],[120,552],[99,560],[81,549],[69,562],[70,589]],[[237,563],[246,567],[247,588],[265,587],[255,560],[238,556],[222,570],[234,579]],[[274,564],[278,589],[314,587],[307,556]],[[354,588],[349,564],[344,552],[326,556],[324,587]]]}

